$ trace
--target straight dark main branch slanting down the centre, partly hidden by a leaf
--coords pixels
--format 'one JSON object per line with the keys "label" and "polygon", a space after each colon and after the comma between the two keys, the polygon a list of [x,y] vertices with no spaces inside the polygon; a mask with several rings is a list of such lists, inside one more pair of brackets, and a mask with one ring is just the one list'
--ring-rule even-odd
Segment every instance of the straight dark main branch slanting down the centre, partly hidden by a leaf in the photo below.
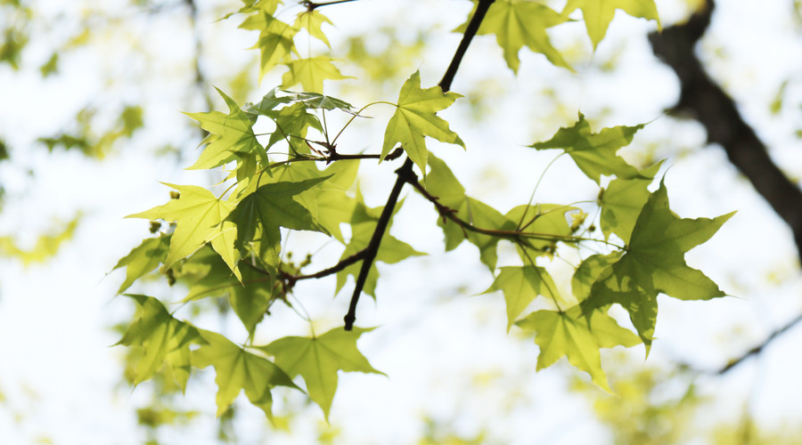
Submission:
{"label": "straight dark main branch slanting down the centre, partly hidden by a leaf", "polygon": [[[451,59],[448,69],[446,69],[446,74],[438,84],[444,93],[451,88],[451,83],[454,80],[454,75],[456,75],[456,71],[460,66],[460,62],[462,62],[462,57],[464,57],[465,52],[468,51],[468,46],[471,44],[471,40],[474,36],[476,36],[477,31],[479,31],[479,25],[481,24],[482,20],[484,20],[485,14],[487,13],[487,10],[490,9],[490,5],[493,4],[493,2],[494,0],[479,0],[479,4],[476,7],[476,12],[473,13],[471,22],[468,23],[468,28],[465,29],[465,33],[462,35],[462,41],[460,42],[459,46],[457,46],[454,57]],[[356,277],[354,295],[351,295],[351,303],[348,305],[348,313],[343,318],[343,320],[345,320],[345,329],[348,331],[354,328],[354,321],[356,320],[356,304],[359,303],[359,296],[362,295],[364,282],[367,279],[368,273],[371,271],[371,266],[376,259],[376,255],[379,253],[381,239],[384,237],[384,232],[387,231],[390,217],[396,208],[398,196],[401,194],[401,190],[404,188],[405,182],[408,182],[410,178],[415,178],[412,167],[412,159],[406,158],[404,165],[396,170],[396,174],[398,175],[396,178],[396,183],[393,185],[393,190],[390,191],[389,197],[387,198],[387,204],[385,204],[384,209],[381,211],[379,221],[376,223],[376,229],[373,231],[371,241],[366,248],[367,251],[364,255],[362,268],[359,270],[359,275]],[[417,178],[415,178],[415,181],[417,181]]]}

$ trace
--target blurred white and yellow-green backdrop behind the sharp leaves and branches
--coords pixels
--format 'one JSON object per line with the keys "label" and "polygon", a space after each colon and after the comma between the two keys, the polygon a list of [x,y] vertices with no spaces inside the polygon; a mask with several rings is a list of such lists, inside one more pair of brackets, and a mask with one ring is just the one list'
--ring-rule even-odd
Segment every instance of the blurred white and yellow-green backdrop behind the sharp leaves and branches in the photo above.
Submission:
{"label": "blurred white and yellow-green backdrop behind the sharp leaves and branches", "polygon": [[[559,11],[565,2],[546,3]],[[700,6],[656,3],[663,27]],[[218,20],[241,5],[0,1],[0,443],[800,441],[802,330],[791,322],[802,314],[802,279],[790,230],[724,151],[708,146],[698,123],[669,116],[679,83],[651,53],[646,35],[657,24],[623,12],[595,52],[581,21],[549,31],[576,74],[525,49],[513,75],[495,39],[479,36],[452,88],[465,98],[443,113],[468,150],[431,145],[469,195],[506,211],[528,199],[541,175],[542,202],[595,198],[567,159],[546,168],[553,153],[524,147],[571,125],[577,111],[594,129],[648,122],[626,157],[642,166],[667,158],[678,214],[738,210],[688,255],[732,296],[661,299],[648,360],[642,347],[602,355],[616,396],[564,360],[535,372],[537,347],[505,333],[501,296],[478,295],[493,278],[475,247],[445,254],[437,215],[409,190],[392,232],[430,255],[380,265],[378,300],[364,301],[358,315],[380,328],[360,348],[388,376],[340,374],[331,424],[302,394],[280,391],[272,425],[244,398],[216,419],[213,376],[202,371],[185,395],[159,381],[133,388],[127,352],[112,345],[134,304],[115,296],[124,275],[112,268],[148,235],[148,223],[124,216],[164,202],[160,181],[219,179],[183,170],[202,134],[181,111],[225,109],[213,85],[243,103],[281,82],[280,70],[258,79],[258,52],[249,49],[256,34],[237,28],[240,17]],[[356,77],[327,83],[326,93],[355,105],[394,101],[416,69],[423,85],[437,84],[460,39],[451,31],[471,6],[360,0],[323,8],[335,24],[324,28],[331,55]],[[288,1],[280,12],[299,8]],[[697,48],[794,182],[802,175],[800,13],[798,0],[721,1]],[[382,113],[373,120],[388,117]],[[360,122],[340,147],[376,150],[383,128]],[[360,174],[367,203],[381,206],[392,166],[364,162]],[[299,245],[320,241],[299,238]],[[311,267],[336,262],[337,249],[323,244]],[[180,299],[155,284],[137,291]],[[297,294],[319,324],[340,323],[347,295],[333,298],[333,279],[305,282]],[[201,320],[241,334],[215,304]],[[304,323],[278,313],[258,336],[306,335]],[[716,372],[761,344],[737,367]]]}

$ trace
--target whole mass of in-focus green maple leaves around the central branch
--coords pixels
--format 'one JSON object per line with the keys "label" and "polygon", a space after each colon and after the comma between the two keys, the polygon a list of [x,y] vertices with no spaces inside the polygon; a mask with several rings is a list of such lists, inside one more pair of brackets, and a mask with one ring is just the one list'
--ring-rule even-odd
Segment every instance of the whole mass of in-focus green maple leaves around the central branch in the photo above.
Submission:
{"label": "whole mass of in-focus green maple leaves around the central branch", "polygon": [[[340,3],[345,2],[330,4]],[[566,22],[574,10],[583,12],[594,45],[616,8],[657,18],[651,1],[622,0],[603,7],[591,3],[570,1],[558,13],[525,0],[480,0],[471,20],[458,30],[465,33],[463,41],[468,44],[474,35],[494,34],[513,71],[520,69],[518,53],[523,46],[569,69],[545,29]],[[344,78],[332,59],[301,58],[295,44],[305,30],[307,38],[328,45],[323,24],[331,21],[317,11],[327,4],[305,2],[306,10],[292,23],[275,17],[279,4],[277,0],[251,2],[239,13],[246,16],[241,28],[258,31],[260,76],[282,66],[287,69],[282,85],[243,105],[217,90],[227,112],[186,113],[209,132],[189,168],[222,171],[224,179],[215,190],[223,191],[166,184],[172,189],[167,203],[130,215],[153,222],[155,236],[144,239],[116,266],[127,269],[120,293],[158,270],[169,286],[177,284],[186,290],[182,307],[225,298],[248,336],[243,343],[235,343],[223,333],[179,320],[159,299],[131,295],[139,312],[119,343],[143,352],[135,368],[135,384],[167,366],[184,388],[192,367],[210,367],[216,371],[218,416],[244,391],[252,404],[271,417],[272,390],[276,386],[299,390],[300,376],[311,400],[328,417],[340,371],[380,373],[356,349],[358,338],[372,328],[351,325],[359,295],[364,291],[377,297],[375,263],[398,263],[422,255],[385,233],[401,208],[403,200],[397,198],[405,185],[430,202],[431,223],[442,229],[446,251],[464,241],[477,248],[479,261],[487,266],[486,293],[503,294],[508,330],[517,327],[534,337],[540,347],[538,369],[566,357],[589,374],[594,384],[610,391],[600,350],[644,344],[648,353],[658,295],[683,300],[724,295],[712,280],[685,263],[684,254],[709,239],[730,214],[680,218],[669,208],[664,182],[659,181],[657,190],[649,189],[660,165],[637,168],[618,155],[643,125],[603,128],[596,133],[580,113],[574,125],[525,150],[561,150],[561,155],[568,155],[578,173],[599,186],[596,201],[565,204],[531,198],[502,212],[468,196],[446,162],[427,147],[427,138],[463,149],[467,146],[438,116],[462,97],[448,91],[454,70],[449,69],[451,77],[446,75],[440,85],[425,88],[415,72],[400,86],[397,101],[375,101],[357,109],[323,94],[323,80]],[[461,57],[454,57],[454,69]],[[287,89],[294,85],[301,85],[303,91]],[[372,145],[377,148],[373,153],[346,153],[337,145],[340,134],[374,106],[394,110],[383,141]],[[345,122],[337,133],[328,125],[335,114]],[[405,163],[396,171],[388,203],[367,206],[357,182],[360,160],[392,162],[403,155]],[[315,258],[310,254],[300,262],[292,259],[287,240],[294,231],[315,232],[318,239],[336,241],[342,249],[340,261],[307,271]],[[501,241],[516,247],[517,265],[497,267]],[[569,292],[558,287],[551,275],[552,259],[560,256],[578,258]],[[331,275],[336,277],[335,293],[351,276],[356,288],[346,328],[332,328],[317,336],[313,320],[295,295],[296,285]],[[258,327],[274,316],[274,303],[290,307],[309,321],[311,335],[258,344]],[[628,313],[634,331],[610,315],[613,304]],[[533,305],[538,309],[527,313]]]}

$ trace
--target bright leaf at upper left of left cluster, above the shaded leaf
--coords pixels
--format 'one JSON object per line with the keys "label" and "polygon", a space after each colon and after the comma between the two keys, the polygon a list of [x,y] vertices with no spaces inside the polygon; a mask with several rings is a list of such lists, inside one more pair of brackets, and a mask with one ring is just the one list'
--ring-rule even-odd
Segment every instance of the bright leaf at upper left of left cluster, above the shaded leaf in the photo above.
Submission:
{"label": "bright leaf at upper left of left cluster, above the shaded leaf", "polygon": [[256,115],[242,111],[236,101],[219,88],[215,89],[223,96],[228,105],[228,114],[219,111],[184,113],[201,123],[201,128],[209,132],[209,137],[205,142],[210,142],[201,152],[201,156],[195,164],[188,169],[209,169],[223,166],[236,160],[238,156],[244,156],[251,152],[262,154],[266,158],[265,149],[259,144],[256,134],[253,133],[252,126],[256,122]]}

